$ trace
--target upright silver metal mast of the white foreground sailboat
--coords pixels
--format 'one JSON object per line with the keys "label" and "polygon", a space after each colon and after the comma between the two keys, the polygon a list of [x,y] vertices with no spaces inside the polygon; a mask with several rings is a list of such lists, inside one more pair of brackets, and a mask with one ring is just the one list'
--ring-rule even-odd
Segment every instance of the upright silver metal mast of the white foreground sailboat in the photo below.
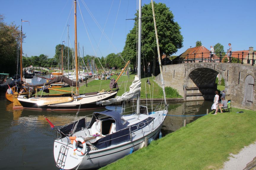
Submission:
{"label": "upright silver metal mast of the white foreground sailboat", "polygon": [[[140,79],[140,70],[141,70],[141,0],[139,0],[139,28],[138,28],[138,63],[137,63],[137,75]],[[137,98],[137,114],[140,113],[140,94],[138,94]]]}

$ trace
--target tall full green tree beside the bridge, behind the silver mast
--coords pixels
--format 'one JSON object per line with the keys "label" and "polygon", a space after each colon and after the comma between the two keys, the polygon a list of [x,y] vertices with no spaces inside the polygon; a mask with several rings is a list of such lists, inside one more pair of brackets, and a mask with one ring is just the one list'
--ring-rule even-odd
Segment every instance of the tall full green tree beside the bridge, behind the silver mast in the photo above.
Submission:
{"label": "tall full green tree beside the bridge, behind the silver mast", "polygon": [[[156,17],[156,27],[159,39],[160,54],[172,55],[183,47],[183,36],[180,32],[180,26],[174,21],[174,15],[170,9],[162,3],[154,2],[154,11]],[[158,56],[156,49],[156,36],[153,23],[152,6],[144,4],[142,6],[142,57],[145,68],[148,63],[153,66]],[[137,13],[135,14],[137,21]],[[122,55],[125,60],[130,60],[136,64],[137,55],[137,22],[134,23],[133,29],[127,34],[124,50]],[[156,66],[154,67],[156,68]]]}

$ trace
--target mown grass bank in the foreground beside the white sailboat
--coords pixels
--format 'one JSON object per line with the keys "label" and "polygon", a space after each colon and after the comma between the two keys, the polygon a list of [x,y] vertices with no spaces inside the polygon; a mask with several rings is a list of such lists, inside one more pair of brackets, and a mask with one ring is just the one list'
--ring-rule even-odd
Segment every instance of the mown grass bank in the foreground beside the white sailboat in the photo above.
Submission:
{"label": "mown grass bank in the foreground beside the white sailboat", "polygon": [[209,114],[102,169],[220,169],[256,140],[255,119],[254,111],[236,108]]}

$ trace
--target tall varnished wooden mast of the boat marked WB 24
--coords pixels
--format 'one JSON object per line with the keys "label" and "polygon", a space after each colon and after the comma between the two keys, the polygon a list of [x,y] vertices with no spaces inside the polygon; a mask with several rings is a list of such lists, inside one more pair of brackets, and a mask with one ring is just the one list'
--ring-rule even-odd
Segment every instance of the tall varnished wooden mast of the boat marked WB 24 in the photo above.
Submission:
{"label": "tall varnished wooden mast of the boat marked WB 24", "polygon": [[76,0],[74,0],[74,6],[75,6],[75,67],[76,67],[76,95],[79,95],[79,82],[78,82],[78,62],[77,62],[77,34],[76,34]]}

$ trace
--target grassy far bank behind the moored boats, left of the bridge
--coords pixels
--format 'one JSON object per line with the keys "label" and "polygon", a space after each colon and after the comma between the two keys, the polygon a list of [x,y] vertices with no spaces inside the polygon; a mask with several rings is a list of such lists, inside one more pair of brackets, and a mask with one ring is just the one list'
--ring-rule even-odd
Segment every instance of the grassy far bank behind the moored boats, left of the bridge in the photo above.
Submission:
{"label": "grassy far bank behind the moored boats, left of the bridge", "polygon": [[[117,79],[118,76],[114,75],[111,76],[111,79],[114,78],[115,80]],[[132,84],[132,81],[134,81],[135,74],[130,74],[129,79],[128,76],[121,76],[120,79],[118,80],[118,85],[119,85],[119,91],[117,93],[117,96],[121,96],[125,91],[129,91],[129,86]],[[149,86],[146,81],[149,79],[151,85]],[[149,78],[141,78],[141,94],[140,97],[142,99],[146,98],[146,94],[148,98],[162,98],[162,88],[155,82],[153,81],[154,77],[149,77]],[[88,93],[88,92],[93,92],[93,91],[101,91],[101,90],[109,90],[109,83],[110,80],[93,80],[87,84],[87,87],[85,85],[80,86],[79,88],[79,93]],[[65,87],[65,88],[57,88],[61,90],[67,90],[71,91],[71,87]],[[73,87],[73,91],[75,91]],[[51,90],[50,94],[59,94],[63,92]],[[46,94],[43,92],[43,95]],[[40,93],[41,95],[41,93]],[[177,95],[175,95],[177,96]],[[170,97],[170,98],[177,98],[177,97]]]}

